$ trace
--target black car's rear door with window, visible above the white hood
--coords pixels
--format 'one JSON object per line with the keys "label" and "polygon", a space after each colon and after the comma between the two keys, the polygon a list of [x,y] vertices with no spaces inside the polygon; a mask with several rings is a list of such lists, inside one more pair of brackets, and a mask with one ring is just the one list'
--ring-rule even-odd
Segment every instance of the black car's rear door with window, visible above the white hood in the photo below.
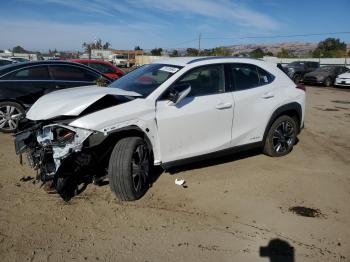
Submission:
{"label": "black car's rear door with window, visible above the white hood", "polygon": [[95,85],[99,74],[73,65],[50,65],[50,74],[56,89]]}

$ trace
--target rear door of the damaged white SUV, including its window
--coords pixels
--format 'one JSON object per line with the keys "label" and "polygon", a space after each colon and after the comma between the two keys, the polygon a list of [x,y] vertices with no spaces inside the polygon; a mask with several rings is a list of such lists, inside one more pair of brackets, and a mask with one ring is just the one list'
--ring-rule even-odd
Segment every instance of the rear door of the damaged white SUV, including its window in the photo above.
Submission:
{"label": "rear door of the damaged white SUV, including its window", "polygon": [[235,101],[232,146],[260,142],[281,93],[274,76],[253,64],[230,64]]}

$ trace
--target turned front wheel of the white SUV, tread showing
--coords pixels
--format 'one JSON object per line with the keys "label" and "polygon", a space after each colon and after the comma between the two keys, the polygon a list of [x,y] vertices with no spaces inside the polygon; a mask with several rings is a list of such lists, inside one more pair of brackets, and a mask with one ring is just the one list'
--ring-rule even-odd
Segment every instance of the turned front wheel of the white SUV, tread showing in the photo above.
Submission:
{"label": "turned front wheel of the white SUV, tread showing", "polygon": [[127,137],[115,145],[108,166],[111,190],[122,201],[141,198],[150,187],[150,152],[140,137]]}

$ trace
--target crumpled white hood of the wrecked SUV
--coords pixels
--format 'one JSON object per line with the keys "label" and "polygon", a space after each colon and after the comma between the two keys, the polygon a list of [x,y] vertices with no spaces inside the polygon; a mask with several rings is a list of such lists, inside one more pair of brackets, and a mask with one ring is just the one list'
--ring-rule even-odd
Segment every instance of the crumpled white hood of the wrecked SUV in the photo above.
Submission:
{"label": "crumpled white hood of the wrecked SUV", "polygon": [[141,96],[135,92],[110,87],[82,86],[63,89],[39,98],[26,117],[30,120],[47,120],[57,116],[78,116],[106,95]]}

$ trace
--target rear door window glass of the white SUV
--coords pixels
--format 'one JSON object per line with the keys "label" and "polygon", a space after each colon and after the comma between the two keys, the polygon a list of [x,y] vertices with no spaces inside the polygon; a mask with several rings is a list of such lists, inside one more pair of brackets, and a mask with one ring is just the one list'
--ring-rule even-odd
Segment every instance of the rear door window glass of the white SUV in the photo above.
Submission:
{"label": "rear door window glass of the white SUV", "polygon": [[231,65],[231,72],[236,91],[246,90],[260,85],[258,70],[255,65],[233,64]]}

